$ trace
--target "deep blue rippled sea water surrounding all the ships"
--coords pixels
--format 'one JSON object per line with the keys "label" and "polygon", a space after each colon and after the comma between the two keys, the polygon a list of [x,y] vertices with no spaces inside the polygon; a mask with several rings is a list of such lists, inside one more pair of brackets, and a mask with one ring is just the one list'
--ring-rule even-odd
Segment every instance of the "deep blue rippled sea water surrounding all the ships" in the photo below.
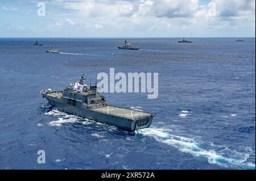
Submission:
{"label": "deep blue rippled sea water surrounding all the ships", "polygon": [[[123,39],[0,39],[0,169],[255,169],[255,38],[129,40],[141,50],[117,49]],[[65,53],[46,53],[50,45]],[[69,115],[40,95],[109,68],[159,73],[157,99],[104,94],[154,112],[150,128]]]}

